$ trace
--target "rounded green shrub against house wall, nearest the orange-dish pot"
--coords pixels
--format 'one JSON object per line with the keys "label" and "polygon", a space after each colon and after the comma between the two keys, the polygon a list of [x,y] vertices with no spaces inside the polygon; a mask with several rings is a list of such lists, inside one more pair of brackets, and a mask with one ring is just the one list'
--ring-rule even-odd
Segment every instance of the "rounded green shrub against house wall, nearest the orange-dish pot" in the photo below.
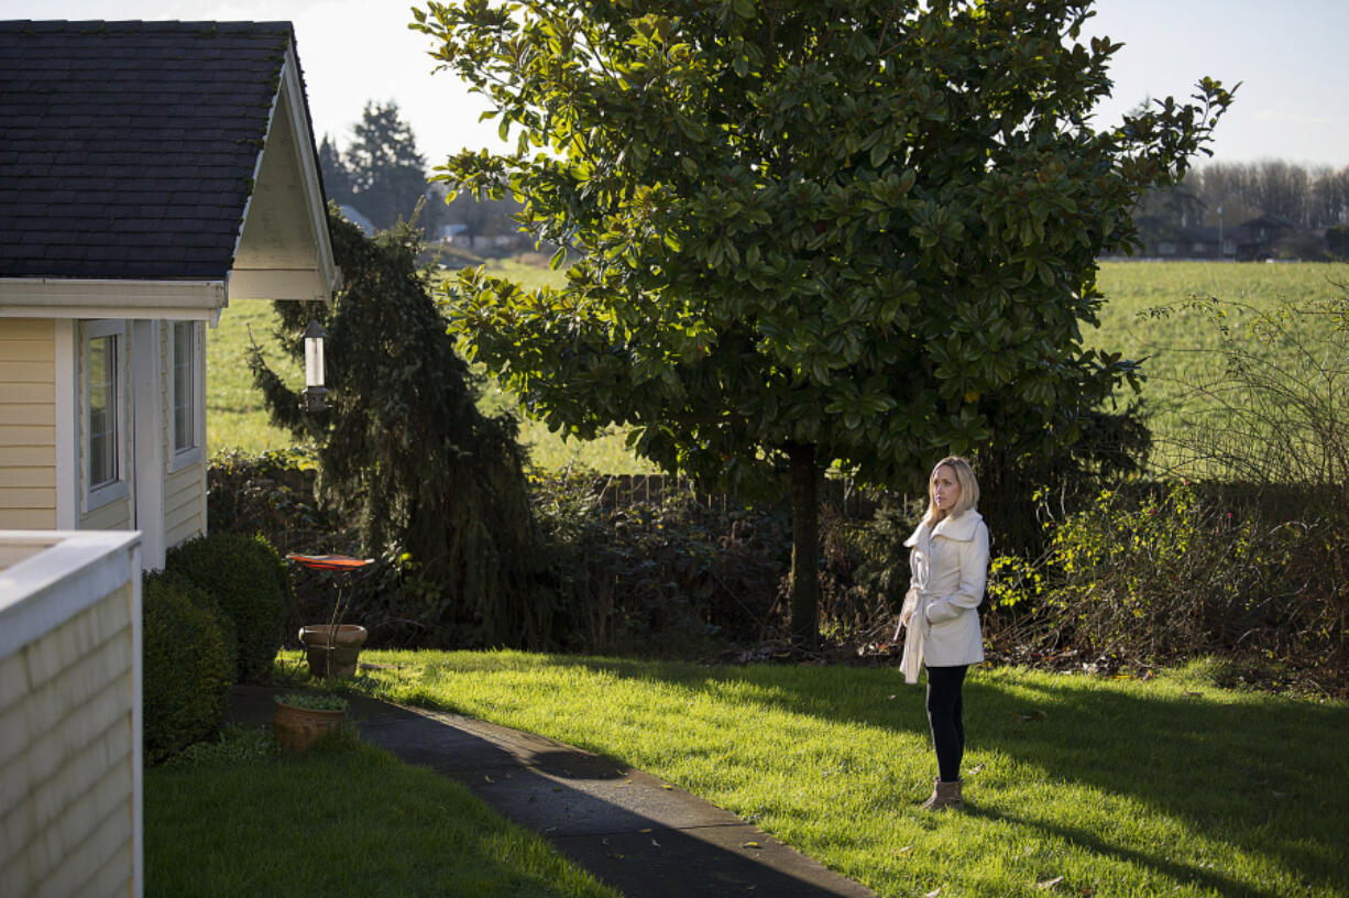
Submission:
{"label": "rounded green shrub against house wall, nearest the orange-dish pot", "polygon": [[213,533],[169,553],[165,569],[205,591],[233,623],[240,680],[262,680],[290,615],[290,572],[262,537]]}

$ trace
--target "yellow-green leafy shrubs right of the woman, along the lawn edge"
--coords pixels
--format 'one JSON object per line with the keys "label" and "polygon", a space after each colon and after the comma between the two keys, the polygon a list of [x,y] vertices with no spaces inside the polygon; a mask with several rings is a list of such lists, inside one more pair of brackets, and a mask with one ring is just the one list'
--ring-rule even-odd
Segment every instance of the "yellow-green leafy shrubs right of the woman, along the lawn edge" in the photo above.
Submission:
{"label": "yellow-green leafy shrubs right of the woman, along the lawn edge", "polygon": [[994,636],[1087,661],[1217,653],[1342,666],[1344,589],[1326,573],[1344,557],[1344,526],[1288,514],[1296,504],[1186,481],[1103,491],[1054,522],[1039,562],[993,561]]}

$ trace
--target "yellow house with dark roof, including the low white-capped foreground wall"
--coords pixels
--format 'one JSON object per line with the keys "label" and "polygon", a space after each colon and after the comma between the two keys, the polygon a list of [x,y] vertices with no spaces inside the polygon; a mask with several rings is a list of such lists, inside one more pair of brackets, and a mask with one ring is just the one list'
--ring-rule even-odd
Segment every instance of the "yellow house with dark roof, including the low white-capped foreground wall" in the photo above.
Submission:
{"label": "yellow house with dark roof, including the low white-capped foreground wall", "polygon": [[140,574],[206,529],[209,332],[337,279],[289,23],[0,22],[0,894],[143,894]]}

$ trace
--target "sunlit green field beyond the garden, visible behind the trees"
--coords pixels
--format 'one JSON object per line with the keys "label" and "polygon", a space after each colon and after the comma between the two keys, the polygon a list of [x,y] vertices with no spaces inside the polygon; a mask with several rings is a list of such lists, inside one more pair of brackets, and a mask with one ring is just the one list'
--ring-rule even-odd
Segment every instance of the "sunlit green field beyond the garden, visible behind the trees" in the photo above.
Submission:
{"label": "sunlit green field beyond the garden, visible behind the trees", "polygon": [[[500,271],[526,286],[557,278],[546,267],[519,260],[494,260],[488,268]],[[1108,297],[1101,328],[1085,333],[1089,345],[1122,352],[1128,357],[1147,356],[1144,384],[1147,407],[1157,413],[1153,426],[1164,444],[1167,434],[1186,426],[1184,407],[1193,402],[1197,383],[1214,373],[1217,329],[1198,311],[1180,311],[1166,321],[1141,318],[1147,309],[1174,305],[1190,295],[1217,297],[1255,307],[1271,307],[1280,298],[1294,302],[1344,297],[1349,264],[1267,264],[1209,262],[1106,262],[1099,286]],[[241,302],[221,316],[220,326],[208,337],[208,444],[212,452],[244,449],[262,452],[290,445],[289,434],[271,427],[260,395],[252,388],[244,364],[248,332],[264,352],[274,347],[274,316],[267,303]],[[266,352],[274,361],[279,353]],[[329,359],[329,365],[341,364]],[[297,365],[283,368],[293,383],[301,382]],[[495,384],[483,395],[486,410],[514,407],[514,399]],[[604,473],[650,471],[633,458],[621,433],[594,442],[564,441],[532,421],[521,422],[521,440],[530,446],[533,461],[548,469],[585,465]]]}

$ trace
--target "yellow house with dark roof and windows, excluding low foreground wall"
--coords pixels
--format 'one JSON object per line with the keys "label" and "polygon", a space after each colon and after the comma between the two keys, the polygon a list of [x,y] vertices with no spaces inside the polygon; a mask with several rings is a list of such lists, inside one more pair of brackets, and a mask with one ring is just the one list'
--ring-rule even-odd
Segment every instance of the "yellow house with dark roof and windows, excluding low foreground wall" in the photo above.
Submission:
{"label": "yellow house with dark roof and windows, excluding low foreground wall", "polygon": [[[339,280],[290,23],[0,23],[0,530],[206,530],[205,344]],[[228,313],[227,313],[228,314]]]}

